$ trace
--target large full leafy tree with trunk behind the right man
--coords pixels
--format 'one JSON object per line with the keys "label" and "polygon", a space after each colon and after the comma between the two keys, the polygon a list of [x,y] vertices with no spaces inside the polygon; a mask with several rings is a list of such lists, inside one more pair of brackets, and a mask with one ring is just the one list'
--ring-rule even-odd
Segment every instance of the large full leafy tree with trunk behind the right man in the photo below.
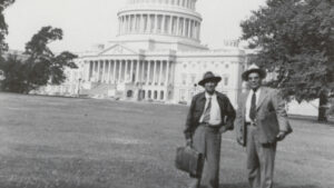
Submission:
{"label": "large full leafy tree with trunk behind the right man", "polygon": [[267,0],[240,23],[242,38],[257,51],[252,61],[277,75],[268,85],[298,102],[320,98],[320,121],[334,90],[333,26],[333,0]]}

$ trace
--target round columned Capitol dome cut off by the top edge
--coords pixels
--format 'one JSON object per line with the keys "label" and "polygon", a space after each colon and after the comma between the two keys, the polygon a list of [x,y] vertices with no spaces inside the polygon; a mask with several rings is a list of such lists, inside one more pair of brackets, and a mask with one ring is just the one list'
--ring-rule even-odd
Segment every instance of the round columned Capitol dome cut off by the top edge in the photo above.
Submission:
{"label": "round columned Capitol dome cut off by the top edge", "polygon": [[[118,11],[118,41],[154,41],[156,48],[179,43],[190,49],[200,44],[202,16],[196,12],[197,0],[128,0]],[[159,46],[159,43],[165,43]],[[176,47],[175,50],[188,48]]]}

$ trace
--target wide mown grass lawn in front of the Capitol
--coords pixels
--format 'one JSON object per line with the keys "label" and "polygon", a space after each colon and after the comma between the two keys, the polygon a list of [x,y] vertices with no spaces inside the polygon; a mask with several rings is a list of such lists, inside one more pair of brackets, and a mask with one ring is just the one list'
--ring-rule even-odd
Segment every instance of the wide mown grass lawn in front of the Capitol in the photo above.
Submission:
{"label": "wide mown grass lawn in front of the Capitol", "polygon": [[[0,93],[0,187],[186,188],[174,167],[188,107]],[[292,119],[276,188],[334,187],[334,127]],[[246,188],[246,155],[223,135],[220,188]]]}

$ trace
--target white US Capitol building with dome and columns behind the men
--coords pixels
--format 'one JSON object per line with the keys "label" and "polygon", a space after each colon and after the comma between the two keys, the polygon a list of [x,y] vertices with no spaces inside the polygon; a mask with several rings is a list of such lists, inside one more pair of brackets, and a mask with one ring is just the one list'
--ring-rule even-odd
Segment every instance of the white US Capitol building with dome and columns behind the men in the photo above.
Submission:
{"label": "white US Capitol building with dome and columns behind the men", "polygon": [[204,72],[213,71],[222,77],[217,90],[236,105],[246,55],[200,43],[196,1],[128,0],[117,13],[118,36],[99,51],[80,55],[79,68],[66,70],[67,81],[43,92],[189,103],[204,90],[196,85]]}

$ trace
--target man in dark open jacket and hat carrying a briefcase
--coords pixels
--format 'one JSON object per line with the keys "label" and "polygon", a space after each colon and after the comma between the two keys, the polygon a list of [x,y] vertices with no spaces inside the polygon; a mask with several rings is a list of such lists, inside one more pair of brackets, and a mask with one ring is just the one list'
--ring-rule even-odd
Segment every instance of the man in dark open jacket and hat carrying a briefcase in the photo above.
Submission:
{"label": "man in dark open jacket and hat carrying a briefcase", "polygon": [[205,88],[193,97],[184,131],[187,145],[204,155],[200,178],[196,178],[191,188],[218,188],[222,133],[233,130],[235,110],[229,99],[215,89],[222,80],[210,71],[198,82]]}

